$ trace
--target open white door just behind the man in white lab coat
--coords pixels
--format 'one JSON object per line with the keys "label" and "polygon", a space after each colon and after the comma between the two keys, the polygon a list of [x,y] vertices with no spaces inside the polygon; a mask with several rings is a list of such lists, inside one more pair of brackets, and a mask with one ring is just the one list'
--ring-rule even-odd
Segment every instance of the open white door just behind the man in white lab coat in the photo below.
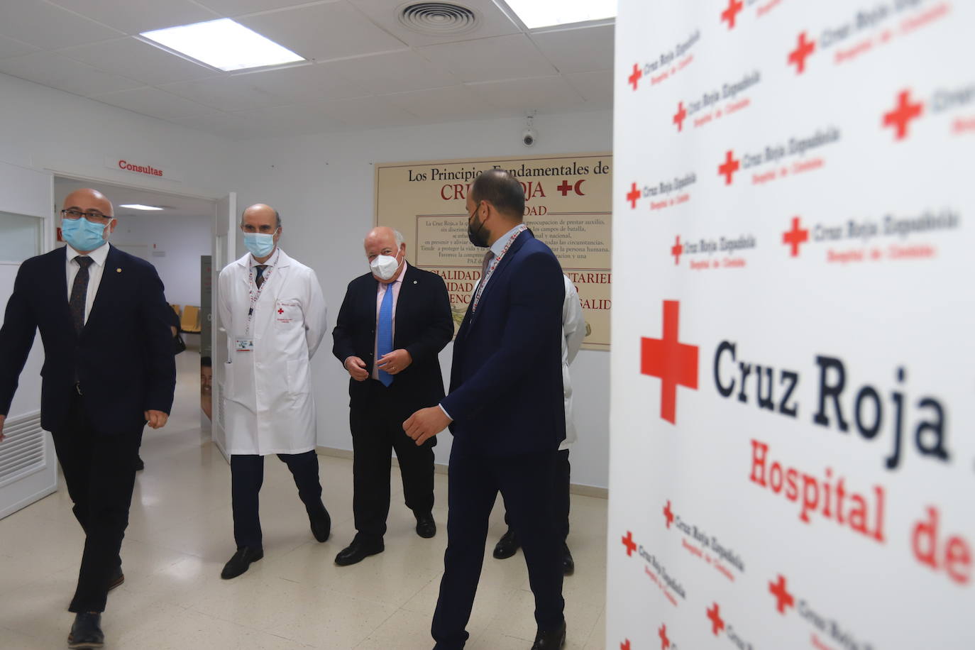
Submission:
{"label": "open white door just behind the man in white lab coat", "polygon": [[213,331],[213,363],[214,363],[214,443],[230,462],[227,456],[225,416],[226,409],[223,402],[223,386],[226,378],[227,363],[227,331],[220,322],[220,310],[217,305],[220,300],[220,287],[217,277],[220,270],[235,259],[234,248],[237,242],[237,194],[231,192],[216,202],[214,215],[214,250],[213,250],[213,295],[214,303],[211,310],[214,326]]}

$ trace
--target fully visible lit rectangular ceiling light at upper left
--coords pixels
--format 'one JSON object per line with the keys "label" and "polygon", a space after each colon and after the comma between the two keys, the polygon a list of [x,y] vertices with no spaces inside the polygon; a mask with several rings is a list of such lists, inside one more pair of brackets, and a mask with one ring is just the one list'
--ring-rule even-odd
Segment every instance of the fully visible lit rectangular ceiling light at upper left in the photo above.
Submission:
{"label": "fully visible lit rectangular ceiling light at upper left", "polygon": [[305,60],[231,19],[208,20],[139,34],[220,70],[243,70]]}

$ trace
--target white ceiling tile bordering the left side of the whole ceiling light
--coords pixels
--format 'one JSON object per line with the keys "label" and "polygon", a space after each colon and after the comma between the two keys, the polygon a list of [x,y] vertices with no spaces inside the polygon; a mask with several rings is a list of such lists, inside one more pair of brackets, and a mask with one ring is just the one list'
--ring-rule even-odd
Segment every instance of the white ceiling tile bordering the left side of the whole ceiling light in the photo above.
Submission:
{"label": "white ceiling tile bordering the left side of the whole ceiling light", "polygon": [[94,65],[105,72],[136,79],[147,86],[215,75],[212,68],[176,57],[132,36],[59,50],[58,54]]}

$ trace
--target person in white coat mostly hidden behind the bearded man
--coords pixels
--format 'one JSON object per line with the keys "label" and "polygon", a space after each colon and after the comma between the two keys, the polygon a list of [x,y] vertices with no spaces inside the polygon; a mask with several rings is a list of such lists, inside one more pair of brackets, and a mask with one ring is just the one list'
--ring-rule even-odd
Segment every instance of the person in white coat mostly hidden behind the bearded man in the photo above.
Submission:
{"label": "person in white coat mostly hidden behind the bearded man", "polygon": [[[575,355],[579,352],[582,339],[586,337],[586,319],[582,314],[582,305],[579,303],[579,293],[575,290],[572,281],[568,276],[563,275],[565,281],[565,300],[562,304],[562,389],[565,395],[565,440],[559,445],[559,454],[556,460],[555,485],[553,492],[553,515],[556,517],[556,527],[562,537],[562,566],[565,575],[571,575],[575,571],[575,560],[568,550],[568,487],[569,487],[569,464],[568,450],[575,442],[575,423],[572,420],[572,381],[568,374],[568,365],[575,360]],[[494,546],[494,557],[505,559],[518,552],[521,544],[518,535],[508,521],[508,514],[505,513],[504,522],[508,524],[508,531],[501,536]]]}

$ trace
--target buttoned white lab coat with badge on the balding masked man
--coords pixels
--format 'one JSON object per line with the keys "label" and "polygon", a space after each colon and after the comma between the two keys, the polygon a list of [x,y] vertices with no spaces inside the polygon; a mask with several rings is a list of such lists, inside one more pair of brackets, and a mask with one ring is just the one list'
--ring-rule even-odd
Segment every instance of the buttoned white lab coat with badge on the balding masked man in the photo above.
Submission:
{"label": "buttoned white lab coat with badge on the balding masked man", "polygon": [[[317,441],[309,362],[328,326],[325,296],[315,272],[280,250],[247,332],[253,263],[248,253],[220,271],[227,453],[303,453]],[[236,352],[238,338],[252,339],[254,351]]]}

